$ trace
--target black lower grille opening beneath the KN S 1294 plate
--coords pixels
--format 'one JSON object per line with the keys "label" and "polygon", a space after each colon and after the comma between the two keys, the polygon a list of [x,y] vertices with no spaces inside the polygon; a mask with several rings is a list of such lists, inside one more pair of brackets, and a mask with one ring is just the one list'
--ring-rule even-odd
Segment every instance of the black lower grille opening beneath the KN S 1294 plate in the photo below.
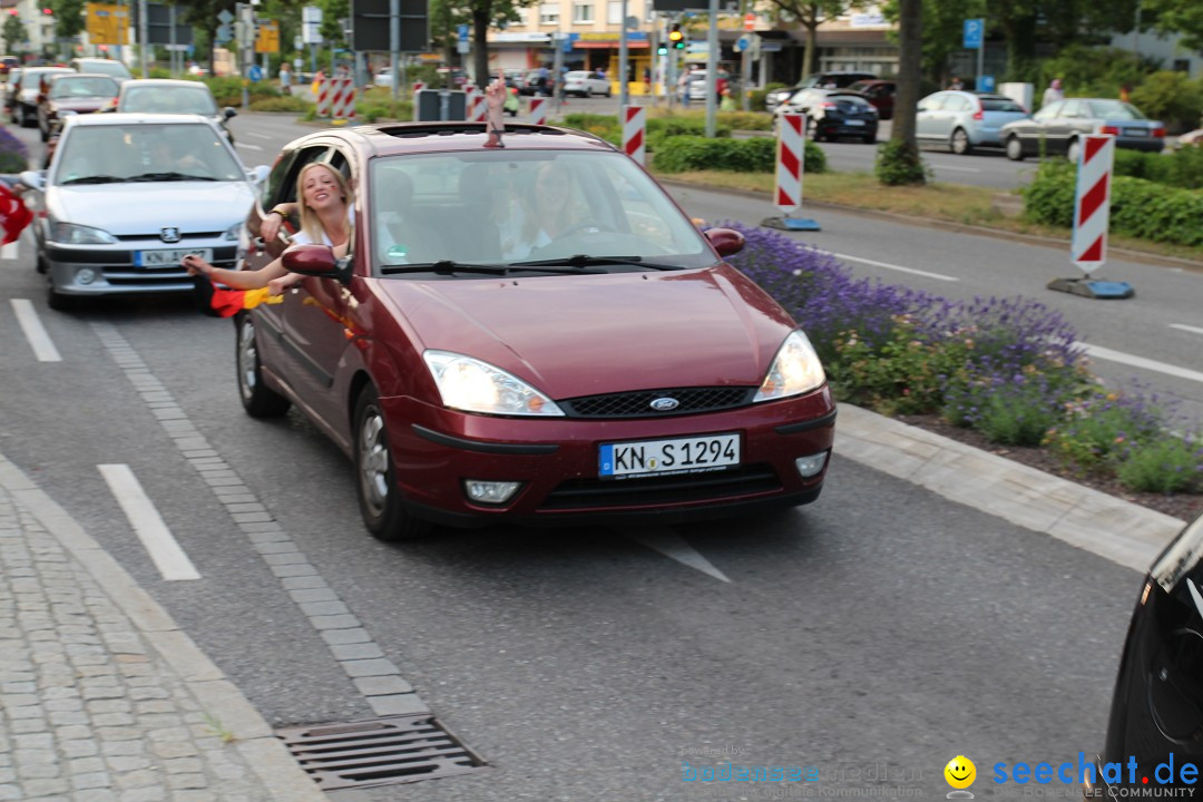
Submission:
{"label": "black lower grille opening beneath the KN S 1294 plate", "polygon": [[575,479],[547,494],[543,510],[653,506],[691,501],[717,501],[781,491],[781,480],[769,465],[647,479]]}

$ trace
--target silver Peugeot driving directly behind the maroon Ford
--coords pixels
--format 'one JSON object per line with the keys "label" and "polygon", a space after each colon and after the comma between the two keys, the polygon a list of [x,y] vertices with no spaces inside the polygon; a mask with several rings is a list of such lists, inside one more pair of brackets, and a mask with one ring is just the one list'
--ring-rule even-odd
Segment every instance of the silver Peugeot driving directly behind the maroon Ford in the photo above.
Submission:
{"label": "silver Peugeot driving directly behind the maroon Ford", "polygon": [[186,254],[235,267],[243,219],[267,173],[248,171],[195,114],[69,117],[49,168],[20,176],[41,192],[34,237],[51,308],[189,291],[179,265]]}

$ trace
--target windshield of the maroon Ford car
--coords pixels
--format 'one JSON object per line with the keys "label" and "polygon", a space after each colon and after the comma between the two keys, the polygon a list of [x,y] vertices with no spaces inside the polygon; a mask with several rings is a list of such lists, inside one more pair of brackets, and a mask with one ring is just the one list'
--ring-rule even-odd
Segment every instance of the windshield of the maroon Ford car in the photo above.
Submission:
{"label": "windshield of the maroon Ford car", "polygon": [[419,275],[417,266],[431,266],[480,278],[545,260],[576,266],[547,272],[585,273],[715,263],[698,228],[618,153],[383,158],[372,161],[369,190],[373,263],[386,274]]}

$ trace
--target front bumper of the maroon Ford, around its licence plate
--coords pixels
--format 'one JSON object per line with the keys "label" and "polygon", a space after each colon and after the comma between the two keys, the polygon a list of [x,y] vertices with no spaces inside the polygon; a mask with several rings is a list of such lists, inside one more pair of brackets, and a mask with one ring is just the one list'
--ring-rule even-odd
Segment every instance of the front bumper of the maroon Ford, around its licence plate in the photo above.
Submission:
{"label": "front bumper of the maroon Ford, around its licence plate", "polygon": [[[685,521],[805,504],[826,464],[802,477],[795,459],[828,455],[835,433],[830,390],[740,409],[656,418],[500,418],[413,398],[381,399],[397,483],[416,515],[452,525],[499,521],[562,524]],[[739,433],[740,465],[666,476],[600,479],[603,442]],[[503,505],[470,501],[464,480],[516,481]]]}

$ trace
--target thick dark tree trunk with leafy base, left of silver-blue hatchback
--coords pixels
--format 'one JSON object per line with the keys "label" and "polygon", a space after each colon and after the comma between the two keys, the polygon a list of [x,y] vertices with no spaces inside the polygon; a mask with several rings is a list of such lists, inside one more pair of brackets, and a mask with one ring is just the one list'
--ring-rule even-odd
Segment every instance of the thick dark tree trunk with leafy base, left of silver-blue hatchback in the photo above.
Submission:
{"label": "thick dark tree trunk with leafy base, left of silver-blue hatchback", "polygon": [[899,0],[899,75],[890,141],[877,155],[883,184],[926,182],[914,136],[923,64],[923,0]]}

